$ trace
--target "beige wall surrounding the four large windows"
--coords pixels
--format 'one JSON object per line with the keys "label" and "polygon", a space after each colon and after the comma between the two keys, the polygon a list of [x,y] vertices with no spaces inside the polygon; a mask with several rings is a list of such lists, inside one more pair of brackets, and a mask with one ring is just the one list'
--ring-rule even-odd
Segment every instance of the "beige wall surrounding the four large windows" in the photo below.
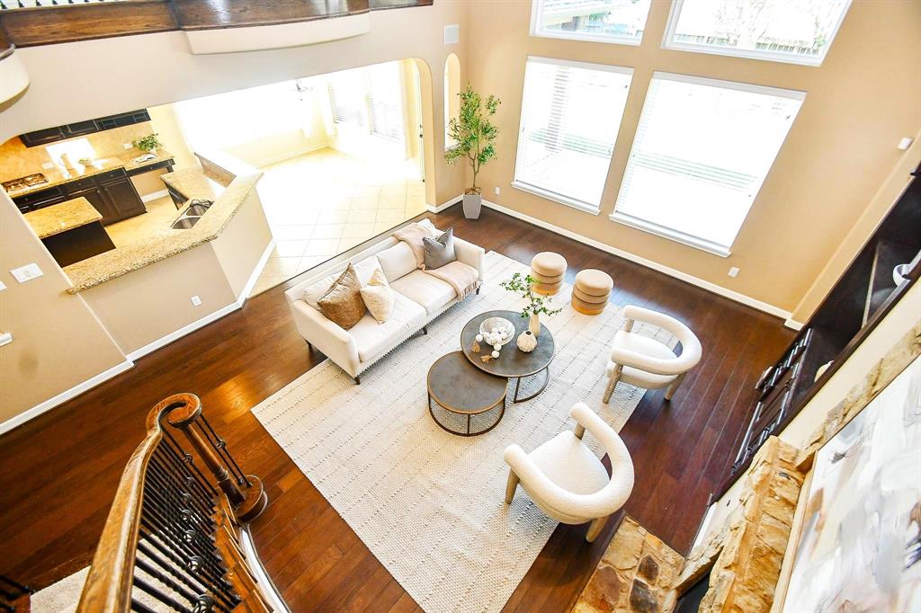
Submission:
{"label": "beige wall surrounding the four large windows", "polygon": [[[785,311],[797,307],[898,163],[899,139],[921,128],[918,2],[854,2],[821,67],[664,50],[665,0],[653,1],[638,47],[531,37],[528,0],[469,6],[475,27],[467,29],[467,74],[474,87],[503,102],[496,115],[499,158],[480,179],[487,199]],[[529,54],[634,69],[600,216],[511,187]],[[608,220],[654,70],[807,92],[728,259]],[[494,187],[502,194],[494,195]],[[740,268],[735,279],[727,276],[730,266]]]}

